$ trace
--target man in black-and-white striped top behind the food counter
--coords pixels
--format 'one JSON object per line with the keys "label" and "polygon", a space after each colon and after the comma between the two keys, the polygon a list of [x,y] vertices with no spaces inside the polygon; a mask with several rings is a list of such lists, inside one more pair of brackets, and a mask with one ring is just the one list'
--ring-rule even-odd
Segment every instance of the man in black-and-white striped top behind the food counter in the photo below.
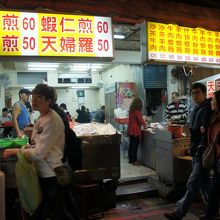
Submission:
{"label": "man in black-and-white striped top behind the food counter", "polygon": [[172,92],[172,102],[167,105],[165,117],[174,124],[186,124],[188,117],[187,106],[179,99],[178,92]]}

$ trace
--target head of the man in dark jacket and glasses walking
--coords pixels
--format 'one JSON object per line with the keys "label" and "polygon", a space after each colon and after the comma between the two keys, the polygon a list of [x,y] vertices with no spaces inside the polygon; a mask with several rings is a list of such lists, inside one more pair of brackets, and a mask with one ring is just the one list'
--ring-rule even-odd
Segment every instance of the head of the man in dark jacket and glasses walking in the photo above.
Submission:
{"label": "head of the man in dark jacket and glasses walking", "polygon": [[206,100],[206,86],[202,83],[193,83],[191,87],[193,102],[201,104]]}

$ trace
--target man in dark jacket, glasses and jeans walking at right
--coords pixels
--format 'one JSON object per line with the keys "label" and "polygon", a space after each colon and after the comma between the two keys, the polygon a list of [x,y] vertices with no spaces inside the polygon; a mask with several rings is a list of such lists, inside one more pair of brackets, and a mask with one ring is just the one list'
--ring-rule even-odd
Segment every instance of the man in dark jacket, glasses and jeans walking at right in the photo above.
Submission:
{"label": "man in dark jacket, glasses and jeans walking at right", "polygon": [[181,220],[186,215],[200,189],[206,201],[208,195],[209,175],[202,166],[202,154],[208,143],[207,130],[212,116],[211,100],[206,99],[206,87],[201,83],[194,83],[191,92],[196,104],[190,127],[192,172],[187,182],[187,191],[182,199],[177,202],[176,210],[164,213],[167,219],[173,220]]}

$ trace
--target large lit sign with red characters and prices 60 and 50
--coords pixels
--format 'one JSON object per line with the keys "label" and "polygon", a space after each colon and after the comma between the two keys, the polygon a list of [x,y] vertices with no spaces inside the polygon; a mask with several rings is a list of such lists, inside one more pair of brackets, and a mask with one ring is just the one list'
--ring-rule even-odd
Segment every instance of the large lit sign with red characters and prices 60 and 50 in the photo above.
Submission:
{"label": "large lit sign with red characters and prices 60 and 50", "polygon": [[113,57],[111,18],[0,11],[0,56]]}

